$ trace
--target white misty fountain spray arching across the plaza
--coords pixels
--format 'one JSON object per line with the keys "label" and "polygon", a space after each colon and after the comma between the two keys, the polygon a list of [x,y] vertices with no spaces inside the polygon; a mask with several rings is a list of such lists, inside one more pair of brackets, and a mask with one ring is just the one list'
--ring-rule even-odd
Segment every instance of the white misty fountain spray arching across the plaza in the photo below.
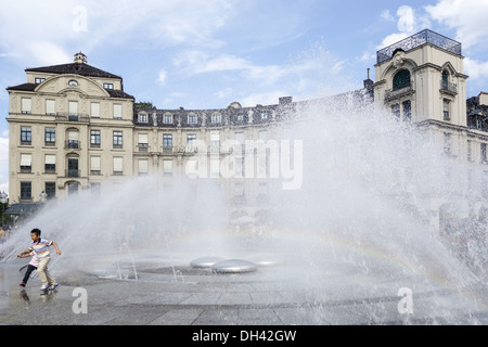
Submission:
{"label": "white misty fountain spray arching across the plaza", "polygon": [[460,193],[465,168],[414,126],[333,100],[304,110],[282,138],[303,141],[303,187],[274,185],[269,222],[275,235],[266,244],[243,245],[228,232],[230,209],[211,179],[176,179],[167,187],[149,176],[110,194],[82,192],[46,204],[3,245],[3,261],[14,259],[28,245],[28,231],[39,228],[63,250],[53,268],[61,277],[82,271],[153,281],[167,273],[171,279],[157,281],[217,285],[230,275],[297,293],[294,305],[319,313],[357,300],[378,303],[364,313],[373,322],[383,322],[382,304],[402,287],[437,307],[444,291],[457,301],[480,286],[481,298],[466,305],[486,311],[486,273],[453,255],[425,204],[428,196]]}

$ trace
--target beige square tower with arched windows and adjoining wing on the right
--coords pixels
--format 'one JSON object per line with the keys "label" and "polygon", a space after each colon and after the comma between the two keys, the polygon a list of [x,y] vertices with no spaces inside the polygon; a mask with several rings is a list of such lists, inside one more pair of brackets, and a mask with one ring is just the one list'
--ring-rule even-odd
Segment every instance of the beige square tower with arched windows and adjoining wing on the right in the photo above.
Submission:
{"label": "beige square tower with arched windows and adjoining wing on the right", "polygon": [[[466,110],[464,56],[460,42],[423,30],[377,52],[375,105],[399,121],[416,125],[439,153],[465,167],[467,180],[448,182],[449,194],[432,191],[423,208],[434,226],[453,215],[465,218],[486,203],[488,133]],[[477,103],[486,103],[485,93]],[[448,176],[449,168],[446,168]],[[445,218],[446,217],[446,218]]]}

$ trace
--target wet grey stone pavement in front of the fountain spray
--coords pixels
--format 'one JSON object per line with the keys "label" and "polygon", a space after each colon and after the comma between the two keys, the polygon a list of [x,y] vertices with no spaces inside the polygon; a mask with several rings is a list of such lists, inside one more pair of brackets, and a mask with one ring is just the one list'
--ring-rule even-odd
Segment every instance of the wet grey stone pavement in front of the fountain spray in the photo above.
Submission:
{"label": "wet grey stone pavement in front of the fountain spray", "polygon": [[[406,278],[399,282],[347,265],[313,281],[309,273],[297,281],[299,272],[292,268],[219,274],[194,269],[187,259],[150,264],[141,257],[132,264],[118,262],[115,272],[54,268],[61,286],[46,295],[37,278],[25,288],[18,286],[23,265],[21,260],[0,264],[0,324],[488,324],[486,285],[474,283],[460,293]],[[284,277],[287,272],[291,275]],[[399,295],[406,283],[413,293],[410,304]]]}

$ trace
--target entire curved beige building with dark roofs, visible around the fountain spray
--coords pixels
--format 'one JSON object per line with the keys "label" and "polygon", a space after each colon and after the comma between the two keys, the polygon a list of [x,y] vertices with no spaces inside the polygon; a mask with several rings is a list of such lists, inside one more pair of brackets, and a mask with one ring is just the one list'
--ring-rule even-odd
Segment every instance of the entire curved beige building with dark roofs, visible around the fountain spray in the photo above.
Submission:
{"label": "entire curved beige building with dark roofs, visible around the fountain spray", "polygon": [[[270,203],[275,184],[270,140],[281,139],[283,125],[313,102],[285,97],[254,107],[239,102],[218,110],[138,107],[121,77],[88,65],[82,53],[72,64],[28,68],[26,75],[26,83],[7,89],[11,204],[37,203],[42,193],[48,198],[88,189],[103,193],[130,177],[156,175],[170,182],[193,175],[215,179],[229,202],[254,214]],[[375,76],[375,82],[368,77],[363,88],[334,98],[374,102],[399,121],[418,125],[467,169],[484,168],[488,94],[470,99],[466,108],[460,42],[423,30],[378,51]],[[231,163],[223,167],[226,159]],[[477,202],[454,196],[463,213],[486,200],[486,175],[470,182],[479,192]],[[446,204],[435,194],[426,200],[437,227]]]}

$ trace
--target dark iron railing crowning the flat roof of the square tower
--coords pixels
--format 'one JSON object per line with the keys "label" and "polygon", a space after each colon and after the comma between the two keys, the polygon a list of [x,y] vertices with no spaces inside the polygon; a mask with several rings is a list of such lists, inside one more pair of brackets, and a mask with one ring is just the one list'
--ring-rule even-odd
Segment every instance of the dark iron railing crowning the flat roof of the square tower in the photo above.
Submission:
{"label": "dark iron railing crowning the flat roof of the square tower", "polygon": [[408,52],[422,44],[431,43],[442,50],[451,52],[453,54],[461,55],[462,46],[460,42],[447,38],[440,34],[434,33],[429,29],[422,30],[415,35],[412,35],[404,40],[388,46],[376,53],[377,63],[382,63],[393,57],[393,54],[398,49]]}

